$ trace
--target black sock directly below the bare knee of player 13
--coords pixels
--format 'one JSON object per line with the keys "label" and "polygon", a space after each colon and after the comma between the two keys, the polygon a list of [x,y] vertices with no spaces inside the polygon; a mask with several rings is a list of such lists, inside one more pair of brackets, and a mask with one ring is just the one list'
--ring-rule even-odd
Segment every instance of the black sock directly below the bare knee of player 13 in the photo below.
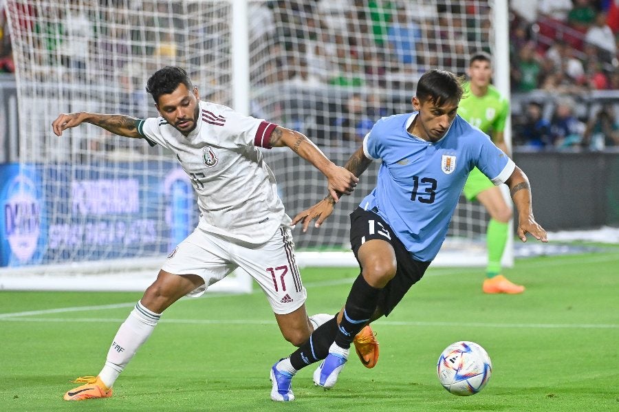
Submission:
{"label": "black sock directly below the bare knee of player 13", "polygon": [[342,316],[335,338],[335,343],[339,347],[344,349],[350,347],[355,336],[361,332],[361,329],[376,311],[379,294],[380,289],[372,288],[363,279],[362,274],[355,279],[352,288],[350,288],[344,307],[344,316]]}

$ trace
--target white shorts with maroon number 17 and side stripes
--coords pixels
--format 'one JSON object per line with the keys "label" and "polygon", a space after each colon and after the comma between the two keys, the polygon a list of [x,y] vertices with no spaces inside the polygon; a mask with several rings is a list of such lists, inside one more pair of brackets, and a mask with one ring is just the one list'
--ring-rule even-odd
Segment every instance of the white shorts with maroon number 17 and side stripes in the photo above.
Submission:
{"label": "white shorts with maroon number 17 and side stripes", "polygon": [[281,226],[266,243],[253,245],[217,237],[200,228],[171,252],[162,270],[197,274],[204,285],[187,296],[201,296],[208,286],[241,268],[258,282],[276,314],[297,310],[307,297],[294,259],[292,232]]}

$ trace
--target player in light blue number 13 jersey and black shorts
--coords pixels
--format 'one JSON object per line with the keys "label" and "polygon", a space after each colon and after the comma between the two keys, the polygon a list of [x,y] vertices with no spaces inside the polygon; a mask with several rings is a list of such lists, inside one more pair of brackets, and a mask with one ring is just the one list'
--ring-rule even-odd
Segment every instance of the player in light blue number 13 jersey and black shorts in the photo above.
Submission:
{"label": "player in light blue number 13 jersey and black shorts", "polygon": [[[351,341],[365,325],[387,316],[419,281],[438,253],[475,166],[495,184],[507,184],[519,212],[518,235],[543,242],[546,232],[533,217],[526,175],[488,135],[457,116],[461,83],[444,70],[421,76],[412,113],[382,118],[365,136],[346,169],[359,176],[380,160],[376,188],[350,215],[351,247],[361,273],[336,318],[318,327],[306,343],[271,368],[271,399],[294,399],[292,377],[318,360],[314,383],[331,388],[349,354]],[[325,197],[299,213],[303,231],[320,226],[335,202]]]}

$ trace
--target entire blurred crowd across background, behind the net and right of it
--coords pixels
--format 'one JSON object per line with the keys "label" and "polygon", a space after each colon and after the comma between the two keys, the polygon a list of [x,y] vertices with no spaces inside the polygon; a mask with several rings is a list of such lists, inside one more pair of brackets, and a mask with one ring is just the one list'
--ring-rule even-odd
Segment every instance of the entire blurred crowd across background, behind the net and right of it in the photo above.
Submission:
{"label": "entire blurred crowd across background, behind the net and right of it", "polygon": [[[105,10],[113,13],[119,0],[98,1],[105,14]],[[40,57],[47,60],[32,62],[41,63],[43,72],[55,65],[80,76],[93,64],[89,58],[94,54],[99,56],[95,64],[111,74],[127,69],[122,56],[130,53],[149,54],[169,64],[186,53],[178,38],[183,31],[166,31],[165,24],[176,24],[172,17],[167,22],[147,17],[153,21],[99,25],[106,29],[97,32],[94,19],[111,17],[87,15],[78,7],[81,3],[69,0],[68,8],[54,8],[63,14],[55,23],[50,19],[45,26],[30,28],[45,42],[39,46],[49,51]],[[153,0],[143,6],[153,9],[149,16],[156,16],[160,8],[167,14],[184,12],[181,3]],[[20,14],[36,12],[27,1],[18,4],[23,6]],[[592,91],[619,94],[619,0],[510,0],[509,4],[512,96],[521,96],[512,100],[514,144],[531,150],[619,146],[619,102],[587,98],[583,110],[583,96]],[[444,67],[464,75],[468,56],[483,50],[491,36],[491,11],[483,1],[270,0],[250,3],[249,14],[250,50],[256,53],[252,59],[261,62],[252,65],[252,85],[339,90],[335,100],[299,109],[328,115],[288,119],[299,127],[314,127],[325,141],[333,128],[344,140],[358,141],[377,116],[410,109],[409,94],[428,68]],[[0,71],[12,72],[6,17],[0,19]],[[28,21],[32,20],[24,19],[25,24]],[[125,26],[132,29],[122,30]],[[75,40],[63,42],[65,38]],[[131,43],[136,39],[138,43]],[[210,45],[208,41],[220,40],[205,40],[203,47]],[[93,47],[97,53],[91,52]],[[492,52],[487,47],[484,51]],[[111,52],[113,60],[107,57]],[[127,85],[127,90],[138,92],[124,109],[138,110],[144,102],[141,89]],[[402,91],[404,98],[380,92],[387,89]]]}

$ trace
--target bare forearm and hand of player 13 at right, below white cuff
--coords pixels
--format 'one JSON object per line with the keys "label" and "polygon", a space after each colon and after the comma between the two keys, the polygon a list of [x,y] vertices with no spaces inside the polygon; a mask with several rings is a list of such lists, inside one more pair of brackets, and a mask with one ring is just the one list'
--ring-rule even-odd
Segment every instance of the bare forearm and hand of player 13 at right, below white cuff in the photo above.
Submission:
{"label": "bare forearm and hand of player 13 at right, below white cuff", "polygon": [[510,188],[510,195],[518,210],[518,237],[525,242],[527,241],[527,233],[530,233],[535,239],[547,242],[546,231],[539,226],[533,217],[531,186],[527,175],[516,166],[506,184]]}

